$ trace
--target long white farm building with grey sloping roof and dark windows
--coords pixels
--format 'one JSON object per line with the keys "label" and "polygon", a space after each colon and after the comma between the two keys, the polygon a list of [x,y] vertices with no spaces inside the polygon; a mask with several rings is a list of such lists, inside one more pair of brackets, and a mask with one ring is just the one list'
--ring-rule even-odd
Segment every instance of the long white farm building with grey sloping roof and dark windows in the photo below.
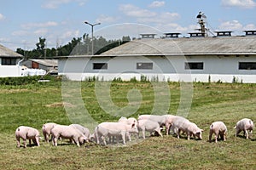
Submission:
{"label": "long white farm building with grey sloping roof and dark windows", "polygon": [[100,55],[60,57],[59,74],[71,80],[98,77],[184,82],[256,82],[256,31],[216,37],[190,33],[178,37],[141,38]]}

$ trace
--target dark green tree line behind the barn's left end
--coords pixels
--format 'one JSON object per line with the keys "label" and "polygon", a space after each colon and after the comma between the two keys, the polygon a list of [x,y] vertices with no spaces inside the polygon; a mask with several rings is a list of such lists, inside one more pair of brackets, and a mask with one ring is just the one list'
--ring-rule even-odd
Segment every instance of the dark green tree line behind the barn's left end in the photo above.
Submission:
{"label": "dark green tree line behind the barn's left end", "polygon": [[32,50],[24,50],[17,48],[16,53],[23,55],[26,59],[53,59],[57,56],[68,55],[90,55],[102,54],[111,48],[118,47],[119,45],[131,41],[129,36],[124,36],[118,40],[107,40],[104,37],[93,37],[94,50],[91,52],[92,41],[89,34],[84,34],[82,37],[73,37],[73,39],[66,45],[56,48],[46,47],[46,38],[39,37],[36,48]]}

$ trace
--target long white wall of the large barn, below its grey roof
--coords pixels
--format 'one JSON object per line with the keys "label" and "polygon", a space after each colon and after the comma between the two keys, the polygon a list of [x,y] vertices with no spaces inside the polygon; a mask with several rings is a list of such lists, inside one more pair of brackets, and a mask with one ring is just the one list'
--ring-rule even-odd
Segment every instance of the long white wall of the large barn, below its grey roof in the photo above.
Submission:
{"label": "long white wall of the large barn, below its grey roof", "polygon": [[[137,62],[152,62],[153,70],[137,70]],[[203,70],[185,70],[185,62],[203,62]],[[149,80],[184,82],[256,82],[256,70],[239,70],[239,62],[256,62],[255,56],[166,56],[166,57],[69,57],[59,59],[59,74],[72,80],[98,77],[99,80],[130,80],[141,75]],[[93,63],[108,63],[108,70],[93,70]]]}

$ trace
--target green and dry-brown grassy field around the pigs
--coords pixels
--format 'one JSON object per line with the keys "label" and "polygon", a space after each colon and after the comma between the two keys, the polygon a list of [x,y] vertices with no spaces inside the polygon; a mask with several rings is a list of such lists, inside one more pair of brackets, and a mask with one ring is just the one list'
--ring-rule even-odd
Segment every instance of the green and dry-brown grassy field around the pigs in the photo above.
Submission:
{"label": "green and dry-brown grassy field around the pigs", "polygon": [[[84,108],[96,122],[119,119],[101,108],[95,82],[80,85]],[[169,82],[168,88],[171,99],[167,112],[176,115],[180,84]],[[84,144],[80,148],[66,140],[57,147],[41,140],[40,147],[24,149],[16,148],[16,127],[31,126],[41,132],[45,122],[72,123],[63,106],[61,82],[0,86],[0,169],[256,169],[256,134],[253,133],[253,139],[235,138],[233,129],[244,117],[255,122],[256,84],[195,82],[190,88],[193,88],[193,98],[187,118],[204,129],[202,140],[148,136],[145,140],[128,142],[126,146]],[[151,113],[156,97],[150,82],[112,82],[113,105],[127,106],[127,93],[132,89],[140,92],[143,101],[131,116]],[[161,95],[163,99],[169,97],[166,93]],[[72,104],[66,106],[72,108]],[[207,142],[209,126],[215,121],[223,121],[228,127],[226,142]]]}

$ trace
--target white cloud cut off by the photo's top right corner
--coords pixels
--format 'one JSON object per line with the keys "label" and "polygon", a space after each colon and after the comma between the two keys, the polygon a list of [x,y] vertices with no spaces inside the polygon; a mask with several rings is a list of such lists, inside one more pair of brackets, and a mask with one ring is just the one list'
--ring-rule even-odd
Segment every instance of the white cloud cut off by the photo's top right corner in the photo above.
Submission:
{"label": "white cloud cut off by the photo's top right corner", "polygon": [[254,8],[256,3],[253,0],[222,0],[224,7]]}

